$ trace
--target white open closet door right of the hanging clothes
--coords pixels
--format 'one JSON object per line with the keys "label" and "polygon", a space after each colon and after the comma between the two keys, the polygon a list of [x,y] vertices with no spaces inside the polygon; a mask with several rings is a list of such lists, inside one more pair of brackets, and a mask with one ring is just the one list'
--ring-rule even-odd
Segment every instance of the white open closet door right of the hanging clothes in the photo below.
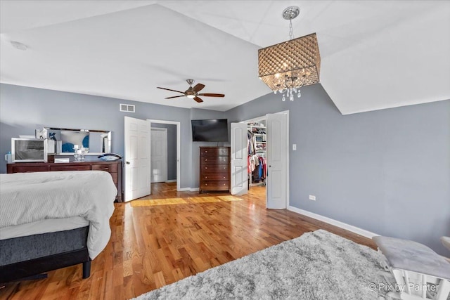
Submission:
{"label": "white open closet door right of the hanging clothes", "polygon": [[285,209],[288,182],[286,176],[288,155],[287,116],[267,114],[267,178],[266,207]]}

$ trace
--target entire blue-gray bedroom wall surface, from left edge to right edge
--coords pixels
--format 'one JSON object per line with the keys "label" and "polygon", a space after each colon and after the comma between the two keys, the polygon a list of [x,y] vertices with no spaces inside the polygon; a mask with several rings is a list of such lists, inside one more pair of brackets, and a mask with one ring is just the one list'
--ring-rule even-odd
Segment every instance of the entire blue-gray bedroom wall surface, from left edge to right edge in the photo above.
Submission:
{"label": "entire blue-gray bedroom wall surface, from left edge to right edge", "polygon": [[[198,187],[198,146],[217,145],[193,143],[191,119],[238,122],[290,110],[291,206],[448,255],[439,237],[450,235],[450,100],[342,116],[320,84],[294,102],[270,93],[228,112],[7,84],[0,92],[1,155],[11,137],[42,126],[111,130],[113,152],[123,155],[124,115],[181,122],[181,188]],[[136,113],[119,112],[119,103],[135,104]]]}

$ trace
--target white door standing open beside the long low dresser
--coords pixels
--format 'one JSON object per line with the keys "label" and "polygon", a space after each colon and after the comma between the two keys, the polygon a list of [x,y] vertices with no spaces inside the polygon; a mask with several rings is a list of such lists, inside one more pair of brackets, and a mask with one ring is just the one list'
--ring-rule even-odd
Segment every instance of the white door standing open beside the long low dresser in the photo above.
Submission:
{"label": "white door standing open beside the long low dresser", "polygon": [[125,117],[125,201],[150,195],[150,122]]}

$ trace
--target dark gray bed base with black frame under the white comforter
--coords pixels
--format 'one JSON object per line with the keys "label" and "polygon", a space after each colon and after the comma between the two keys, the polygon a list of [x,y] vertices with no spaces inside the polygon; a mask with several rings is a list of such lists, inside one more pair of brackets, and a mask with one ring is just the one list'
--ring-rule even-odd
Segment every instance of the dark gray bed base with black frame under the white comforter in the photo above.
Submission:
{"label": "dark gray bed base with black frame under the white comforter", "polygon": [[0,240],[0,282],[9,282],[83,263],[91,274],[86,247],[89,227]]}

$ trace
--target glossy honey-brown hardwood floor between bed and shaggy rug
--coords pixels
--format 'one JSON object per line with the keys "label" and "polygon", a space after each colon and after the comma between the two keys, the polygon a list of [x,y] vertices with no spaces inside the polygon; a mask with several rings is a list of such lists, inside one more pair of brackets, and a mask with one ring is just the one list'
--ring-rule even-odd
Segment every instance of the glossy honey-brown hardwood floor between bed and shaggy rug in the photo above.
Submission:
{"label": "glossy honey-brown hardwood floor between bed and shaggy rug", "polygon": [[54,270],[44,280],[8,283],[0,299],[130,299],[320,228],[375,249],[347,230],[266,209],[264,187],[235,197],[157,183],[151,196],[115,207],[110,242],[92,261],[90,278],[82,279],[81,265]]}

